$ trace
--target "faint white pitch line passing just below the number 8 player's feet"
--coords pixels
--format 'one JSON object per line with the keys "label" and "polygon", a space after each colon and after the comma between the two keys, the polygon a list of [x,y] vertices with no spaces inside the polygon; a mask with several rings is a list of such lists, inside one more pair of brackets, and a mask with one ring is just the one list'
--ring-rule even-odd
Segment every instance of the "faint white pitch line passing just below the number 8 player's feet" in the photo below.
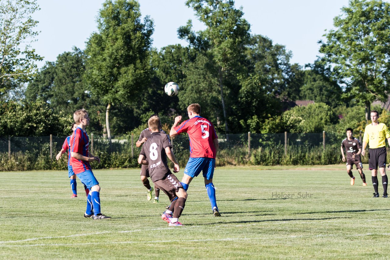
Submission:
{"label": "faint white pitch line passing just below the number 8 player's feet", "polygon": [[[378,220],[382,220],[382,219],[371,219],[371,220],[362,220],[362,221],[359,221],[359,222],[369,222],[369,221],[378,221]],[[322,221],[323,223],[324,222],[338,222],[338,220],[329,220],[329,221]],[[278,222],[280,224],[285,224],[287,223],[287,221],[280,221]],[[303,222],[298,222],[296,224],[312,224],[311,221],[307,222],[307,221],[303,221]],[[225,224],[225,225],[216,225],[214,226],[215,228],[218,228],[218,227],[225,227],[225,226],[228,226],[229,224]],[[259,224],[257,223],[253,223],[253,224],[238,224],[238,225],[234,225],[236,227],[240,227],[240,226],[257,226]],[[200,228],[200,227],[204,227],[204,226],[189,226],[189,227],[180,227],[181,229],[189,229],[189,228]],[[167,228],[153,228],[153,229],[150,229],[151,231],[154,231],[154,230],[168,230],[168,229],[172,229],[172,227],[167,227]],[[135,229],[135,230],[122,230],[122,231],[117,231],[117,233],[131,233],[131,232],[143,232],[144,230],[142,229]],[[23,240],[15,240],[15,241],[0,241],[0,246],[9,246],[9,245],[6,245],[6,244],[10,244],[10,243],[19,243],[19,242],[29,242],[29,241],[36,241],[36,240],[40,240],[40,239],[57,239],[57,238],[67,238],[67,237],[83,237],[83,236],[89,236],[89,235],[101,235],[101,234],[108,234],[108,233],[115,233],[113,231],[104,231],[104,232],[96,232],[96,233],[85,233],[85,234],[74,234],[74,235],[64,235],[64,236],[57,236],[57,237],[34,237],[34,238],[29,238],[29,239],[23,239]],[[384,235],[387,235],[387,234],[390,234],[390,233],[385,233]],[[367,234],[360,234],[360,235],[367,235]],[[369,234],[370,235],[370,234]],[[314,236],[314,235],[312,235]],[[317,235],[317,236],[321,236],[321,235]],[[325,236],[331,236],[331,235],[325,235]],[[301,237],[301,236],[289,236],[289,237]],[[135,243],[135,242],[134,242]],[[43,244],[42,244],[43,245]],[[31,246],[31,245],[26,245],[26,246]],[[39,246],[39,245],[37,245]]]}

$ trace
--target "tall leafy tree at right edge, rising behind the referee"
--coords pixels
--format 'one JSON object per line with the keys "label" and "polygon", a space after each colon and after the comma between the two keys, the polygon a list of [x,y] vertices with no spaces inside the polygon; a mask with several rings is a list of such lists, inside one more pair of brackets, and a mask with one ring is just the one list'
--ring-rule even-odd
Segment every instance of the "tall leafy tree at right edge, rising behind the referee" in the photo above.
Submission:
{"label": "tall leafy tree at right edge, rising behind the referee", "polygon": [[390,93],[390,4],[350,0],[341,11],[319,51],[325,64],[334,64],[333,76],[347,95],[365,104],[369,120],[372,101],[386,101]]}

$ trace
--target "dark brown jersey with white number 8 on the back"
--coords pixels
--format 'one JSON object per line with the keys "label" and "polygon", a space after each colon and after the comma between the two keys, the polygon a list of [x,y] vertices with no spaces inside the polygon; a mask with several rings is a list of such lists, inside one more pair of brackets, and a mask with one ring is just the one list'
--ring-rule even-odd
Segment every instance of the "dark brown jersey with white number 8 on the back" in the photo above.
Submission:
{"label": "dark brown jersey with white number 8 on the back", "polygon": [[148,161],[149,175],[152,182],[163,179],[170,170],[167,164],[166,147],[172,147],[169,136],[159,132],[154,132],[142,145],[140,154]]}

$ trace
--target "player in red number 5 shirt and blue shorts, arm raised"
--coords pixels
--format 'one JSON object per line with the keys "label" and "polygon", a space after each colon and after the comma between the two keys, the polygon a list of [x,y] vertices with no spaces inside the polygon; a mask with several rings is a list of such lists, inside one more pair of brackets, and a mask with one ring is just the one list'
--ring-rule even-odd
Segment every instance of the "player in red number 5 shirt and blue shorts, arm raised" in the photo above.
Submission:
{"label": "player in red number 5 shirt and blue shorts, arm raised", "polygon": [[200,116],[199,104],[190,104],[187,112],[190,119],[178,126],[181,116],[177,116],[169,132],[172,138],[180,133],[187,133],[190,138],[190,159],[188,159],[184,170],[181,184],[187,191],[191,180],[202,171],[213,215],[219,217],[221,215],[216,203],[213,184],[215,156],[218,151],[218,136],[213,124],[208,119]]}

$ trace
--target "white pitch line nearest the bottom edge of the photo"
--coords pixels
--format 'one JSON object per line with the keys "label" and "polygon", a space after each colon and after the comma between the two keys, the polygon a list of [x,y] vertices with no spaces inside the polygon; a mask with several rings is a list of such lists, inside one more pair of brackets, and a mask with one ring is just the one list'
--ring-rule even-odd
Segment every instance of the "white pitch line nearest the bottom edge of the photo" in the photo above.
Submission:
{"label": "white pitch line nearest the bottom edge of the photo", "polygon": [[[364,237],[369,235],[390,235],[390,233],[381,233],[381,234],[374,234],[374,233],[364,233],[364,234],[355,234],[351,235],[348,234],[346,236],[348,237]],[[204,241],[247,241],[247,240],[261,240],[261,239],[294,239],[294,238],[310,238],[310,237],[335,237],[340,236],[339,234],[333,234],[333,235],[291,235],[291,236],[280,236],[280,237],[227,237],[227,238],[221,238],[221,239],[191,239],[191,240],[160,240],[160,241],[118,241],[118,242],[89,242],[89,243],[69,243],[69,244],[31,244],[31,245],[4,245],[6,247],[38,247],[38,246],[88,246],[88,245],[107,245],[107,244],[136,244],[136,243],[142,243],[142,244],[157,244],[157,243],[183,243],[183,242],[204,242]]]}

